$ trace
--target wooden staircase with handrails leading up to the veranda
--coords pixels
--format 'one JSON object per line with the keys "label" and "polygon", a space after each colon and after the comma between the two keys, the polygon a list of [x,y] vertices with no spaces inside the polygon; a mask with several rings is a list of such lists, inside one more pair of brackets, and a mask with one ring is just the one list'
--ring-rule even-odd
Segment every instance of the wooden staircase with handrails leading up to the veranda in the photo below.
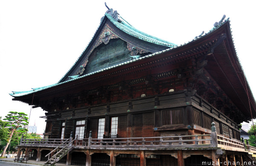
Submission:
{"label": "wooden staircase with handrails leading up to the veranda", "polygon": [[[73,150],[74,145],[72,144],[74,140],[69,141],[70,139],[67,139],[66,141],[64,141],[63,143],[61,143],[61,145],[59,145],[57,148],[53,149],[52,152],[50,152],[48,155],[46,155],[45,157],[48,156],[48,160],[47,162],[45,162],[45,165],[54,165],[55,163],[57,163],[59,160],[61,160],[61,158],[63,158],[65,155],[67,155],[70,151]],[[64,146],[65,144],[67,144],[66,146]],[[63,147],[64,146],[64,147]],[[63,148],[62,148],[63,147]],[[59,150],[60,149],[60,150]],[[53,155],[52,157],[50,157],[50,154],[55,153],[55,155]]]}

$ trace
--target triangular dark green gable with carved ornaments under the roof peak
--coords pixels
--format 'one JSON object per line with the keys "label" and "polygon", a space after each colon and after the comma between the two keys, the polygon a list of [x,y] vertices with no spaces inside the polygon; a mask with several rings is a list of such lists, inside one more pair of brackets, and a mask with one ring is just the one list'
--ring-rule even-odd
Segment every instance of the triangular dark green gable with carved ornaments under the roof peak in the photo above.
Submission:
{"label": "triangular dark green gable with carved ornaments under the roof peak", "polygon": [[131,30],[124,31],[123,24],[109,19],[107,15],[87,48],[59,83],[170,47],[149,41],[148,37],[141,40],[129,34]]}

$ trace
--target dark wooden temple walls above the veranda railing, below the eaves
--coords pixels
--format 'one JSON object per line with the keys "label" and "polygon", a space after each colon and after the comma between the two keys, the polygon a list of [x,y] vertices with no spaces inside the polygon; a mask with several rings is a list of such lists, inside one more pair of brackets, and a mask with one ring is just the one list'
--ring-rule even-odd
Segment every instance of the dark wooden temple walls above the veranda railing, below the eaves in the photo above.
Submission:
{"label": "dark wooden temple walls above the veranda railing, below the eaves", "polygon": [[[189,108],[189,109],[188,109]],[[191,110],[191,113],[189,113]],[[118,117],[118,137],[154,137],[166,135],[188,135],[187,126],[197,125],[201,129],[195,131],[204,133],[211,131],[211,123],[215,122],[218,134],[228,127],[229,136],[239,139],[238,125],[227,116],[212,107],[198,95],[189,101],[184,92],[172,92],[153,97],[138,97],[133,100],[95,105],[84,109],[63,110],[47,120],[47,130],[52,123],[52,138],[60,136],[60,122],[65,121],[65,138],[75,129],[76,120],[86,120],[84,137],[92,131],[97,138],[98,120],[105,117],[105,135],[111,130],[111,117]],[[189,121],[189,119],[191,119]],[[181,127],[183,127],[181,129]],[[191,129],[190,129],[191,130]],[[205,131],[206,131],[205,130]],[[207,133],[207,132],[206,132]],[[75,137],[76,133],[74,133]]]}

